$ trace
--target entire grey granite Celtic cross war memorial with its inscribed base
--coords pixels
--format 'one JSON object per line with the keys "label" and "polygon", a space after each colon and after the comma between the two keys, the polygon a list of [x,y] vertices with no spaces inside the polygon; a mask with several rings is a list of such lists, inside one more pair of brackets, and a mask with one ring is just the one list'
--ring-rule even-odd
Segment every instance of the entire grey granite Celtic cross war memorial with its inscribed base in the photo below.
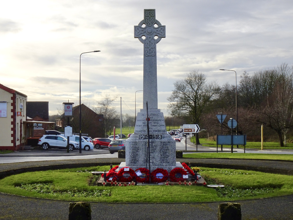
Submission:
{"label": "entire grey granite Celtic cross war memorial with its inscribed base", "polygon": [[[165,37],[166,27],[156,20],[155,9],[144,9],[144,20],[134,26],[134,38],[144,44],[143,109],[137,113],[134,133],[126,140],[125,162],[119,169],[127,166],[136,170],[150,165],[150,172],[156,168],[170,172],[175,167],[182,168],[180,162],[176,162],[175,140],[167,134],[163,112],[158,109],[156,44]],[[150,163],[147,160],[148,138]]]}

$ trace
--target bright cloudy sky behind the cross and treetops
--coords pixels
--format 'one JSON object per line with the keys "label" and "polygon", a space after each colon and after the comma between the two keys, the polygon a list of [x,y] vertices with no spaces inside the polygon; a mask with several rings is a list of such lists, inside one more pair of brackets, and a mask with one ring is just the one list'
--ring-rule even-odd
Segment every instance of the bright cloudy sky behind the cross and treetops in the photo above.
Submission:
{"label": "bright cloudy sky behind the cross and treetops", "polygon": [[[92,106],[118,96],[122,114],[134,115],[135,91],[143,89],[143,44],[134,26],[144,9],[156,9],[166,25],[157,46],[158,108],[167,115],[173,83],[199,70],[219,85],[235,84],[243,71],[292,65],[292,0],[27,0],[0,9],[0,83],[28,101],[49,101],[49,115],[62,102]],[[136,95],[137,112],[142,92]]]}

